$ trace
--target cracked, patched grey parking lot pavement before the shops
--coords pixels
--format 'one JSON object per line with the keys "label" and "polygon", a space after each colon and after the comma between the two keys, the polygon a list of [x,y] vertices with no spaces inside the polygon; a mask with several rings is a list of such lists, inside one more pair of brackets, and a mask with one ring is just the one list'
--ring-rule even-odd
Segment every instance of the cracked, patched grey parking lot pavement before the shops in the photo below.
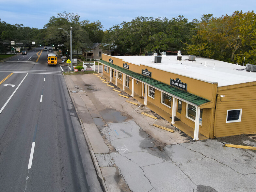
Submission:
{"label": "cracked, patched grey parking lot pavement before the shops", "polygon": [[71,95],[108,191],[256,191],[256,151],[224,146],[256,146],[254,139],[241,135],[193,141],[132,97],[128,100],[140,107],[125,102],[96,75],[65,78],[70,90],[76,90]]}

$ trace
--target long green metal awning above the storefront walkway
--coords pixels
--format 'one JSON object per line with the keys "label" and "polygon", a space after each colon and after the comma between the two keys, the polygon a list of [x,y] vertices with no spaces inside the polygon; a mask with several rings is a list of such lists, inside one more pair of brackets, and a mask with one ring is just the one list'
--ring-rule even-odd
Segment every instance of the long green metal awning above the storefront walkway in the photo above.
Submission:
{"label": "long green metal awning above the storefront walkway", "polygon": [[201,105],[201,104],[205,104],[205,103],[208,103],[210,102],[210,100],[208,99],[205,99],[205,98],[202,98],[202,97],[199,97],[197,95],[194,95],[192,93],[189,93],[187,91],[184,91],[184,90],[181,90],[179,88],[175,88],[171,85],[167,85],[165,83],[162,83],[160,81],[157,81],[155,79],[152,79],[150,77],[147,77],[147,76],[144,76],[142,74],[139,74],[139,73],[136,73],[136,72],[132,72],[128,69],[124,69],[122,67],[119,67],[117,65],[114,65],[112,63],[109,63],[107,61],[104,61],[104,60],[100,60],[98,61],[104,65],[107,65],[111,68],[114,68],[120,72],[123,72],[124,74],[127,74],[128,76],[131,76],[132,78],[135,78],[141,82],[144,82],[146,84],[149,84],[151,85],[152,87],[155,87],[157,89],[160,89],[160,90],[163,90],[164,92],[167,92],[171,95],[174,95],[178,98],[181,98],[189,103],[192,103],[192,104],[195,104],[195,105]]}

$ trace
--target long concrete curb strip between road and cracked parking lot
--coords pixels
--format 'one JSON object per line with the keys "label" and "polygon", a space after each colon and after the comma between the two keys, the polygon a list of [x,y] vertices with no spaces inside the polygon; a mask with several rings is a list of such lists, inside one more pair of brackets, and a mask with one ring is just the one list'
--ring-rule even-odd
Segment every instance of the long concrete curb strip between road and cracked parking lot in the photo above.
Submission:
{"label": "long concrete curb strip between road and cracked parking lot", "polygon": [[[63,75],[63,77],[64,77],[64,74],[63,74],[63,73],[62,73],[62,75]],[[69,96],[70,96],[70,98],[71,98],[71,100],[72,100],[72,103],[73,103],[73,105],[74,105],[74,107],[75,107],[75,111],[76,111],[76,113],[77,113],[77,116],[78,116],[78,119],[79,119],[81,128],[82,128],[82,130],[83,130],[83,133],[84,133],[84,136],[85,136],[85,140],[86,140],[87,146],[88,146],[88,148],[89,148],[89,152],[90,152],[90,155],[91,155],[91,158],[92,158],[92,162],[93,162],[93,164],[94,164],[94,167],[95,167],[95,170],[96,170],[96,173],[97,173],[99,182],[100,182],[101,187],[102,187],[102,190],[103,190],[104,192],[108,192],[107,187],[106,187],[106,184],[105,184],[104,179],[103,179],[103,176],[102,176],[102,173],[101,173],[100,166],[99,166],[99,164],[98,164],[98,161],[97,161],[97,159],[96,159],[96,156],[95,156],[95,154],[94,154],[94,152],[93,152],[93,149],[92,149],[92,147],[91,147],[91,144],[90,144],[88,135],[87,135],[87,133],[86,133],[86,131],[85,131],[84,125],[83,125],[82,120],[81,120],[81,118],[80,118],[79,112],[78,112],[78,110],[77,110],[77,108],[76,108],[76,104],[75,104],[74,99],[73,99],[73,97],[72,97],[72,95],[71,95],[70,88],[69,88],[69,86],[68,86],[68,84],[67,84],[67,81],[66,81],[65,77],[64,77],[64,80],[65,80],[65,82],[66,82],[66,85],[67,85],[67,88],[68,88],[68,92],[69,92]]]}

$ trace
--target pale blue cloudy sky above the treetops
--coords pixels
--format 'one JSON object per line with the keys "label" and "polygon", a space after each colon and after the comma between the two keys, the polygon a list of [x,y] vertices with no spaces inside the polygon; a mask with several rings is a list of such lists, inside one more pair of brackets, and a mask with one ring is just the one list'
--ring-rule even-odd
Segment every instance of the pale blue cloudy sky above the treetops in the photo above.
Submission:
{"label": "pale blue cloudy sky above the treetops", "polygon": [[42,29],[51,16],[64,11],[77,13],[80,20],[99,20],[105,29],[135,17],[184,15],[189,21],[203,14],[214,17],[256,8],[256,0],[0,0],[0,19],[9,24],[23,24]]}

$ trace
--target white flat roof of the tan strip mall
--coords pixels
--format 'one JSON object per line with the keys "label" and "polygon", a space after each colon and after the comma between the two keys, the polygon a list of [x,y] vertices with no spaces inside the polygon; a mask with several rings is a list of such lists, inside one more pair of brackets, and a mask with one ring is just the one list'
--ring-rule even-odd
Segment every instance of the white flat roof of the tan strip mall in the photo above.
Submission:
{"label": "white flat roof of the tan strip mall", "polygon": [[218,87],[256,81],[256,72],[247,72],[245,66],[198,56],[196,61],[187,60],[188,56],[182,56],[181,61],[177,60],[177,56],[162,56],[162,63],[154,63],[154,56],[111,57],[120,58],[124,63],[141,64],[209,83],[218,83]]}

